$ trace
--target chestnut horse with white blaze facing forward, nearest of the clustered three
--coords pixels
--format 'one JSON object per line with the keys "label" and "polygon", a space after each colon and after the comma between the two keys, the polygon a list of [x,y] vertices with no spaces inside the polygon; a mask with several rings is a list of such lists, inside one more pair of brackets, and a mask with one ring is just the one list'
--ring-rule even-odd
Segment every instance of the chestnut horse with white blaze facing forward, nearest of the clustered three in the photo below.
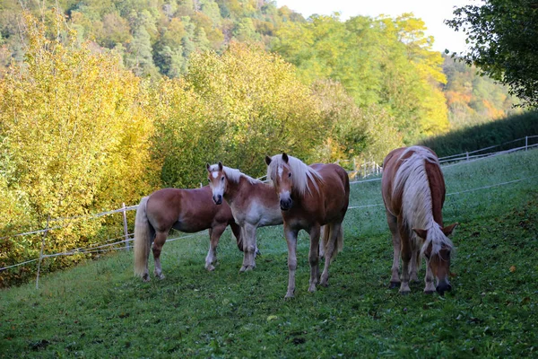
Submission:
{"label": "chestnut horse with white blaze facing forward, nearest of the clustered three", "polygon": [[[316,163],[307,166],[286,153],[265,156],[267,179],[273,181],[279,197],[284,220],[284,236],[288,242],[288,291],[285,298],[295,292],[297,268],[297,234],[305,230],[310,235],[309,292],[316,291],[320,283],[326,286],[329,264],[343,248],[342,222],[350,199],[350,180],[342,167]],[[319,237],[325,225],[322,248],[325,249],[325,268],[319,277]]]}

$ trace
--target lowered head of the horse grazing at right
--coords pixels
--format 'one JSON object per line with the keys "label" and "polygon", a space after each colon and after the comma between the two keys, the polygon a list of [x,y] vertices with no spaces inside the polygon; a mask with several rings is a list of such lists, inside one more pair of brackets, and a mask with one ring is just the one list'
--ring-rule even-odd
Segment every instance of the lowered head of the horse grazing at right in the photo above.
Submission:
{"label": "lowered head of the horse grazing at right", "polygon": [[[443,236],[440,241],[429,241],[429,235],[433,235],[430,231],[413,228],[413,231],[424,241],[426,248],[422,250],[424,257],[428,260],[428,266],[431,269],[433,276],[437,279],[436,291],[443,295],[445,292],[452,289],[452,285],[448,281],[448,275],[450,274],[450,257],[454,246],[452,241],[448,239],[448,236],[452,234],[458,223],[447,225],[441,228],[438,233],[439,236]],[[433,231],[432,231],[433,232]]]}

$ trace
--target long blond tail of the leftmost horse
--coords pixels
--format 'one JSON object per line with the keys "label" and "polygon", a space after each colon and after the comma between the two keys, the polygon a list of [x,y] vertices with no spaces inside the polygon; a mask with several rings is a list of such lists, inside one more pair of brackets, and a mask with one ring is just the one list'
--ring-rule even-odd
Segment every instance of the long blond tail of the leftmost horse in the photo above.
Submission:
{"label": "long blond tail of the leftmost horse", "polygon": [[150,223],[146,215],[149,197],[143,197],[136,209],[134,220],[134,276],[143,276],[148,267],[151,246]]}

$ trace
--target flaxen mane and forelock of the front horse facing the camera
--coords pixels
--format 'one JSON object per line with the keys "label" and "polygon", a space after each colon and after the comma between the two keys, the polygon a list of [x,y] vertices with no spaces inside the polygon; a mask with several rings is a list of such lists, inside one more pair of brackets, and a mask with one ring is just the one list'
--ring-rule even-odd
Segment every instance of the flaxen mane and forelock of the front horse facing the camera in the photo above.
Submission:
{"label": "flaxen mane and forelock of the front horse facing the camera", "polygon": [[318,182],[323,183],[323,178],[312,167],[307,166],[304,162],[300,161],[288,154],[288,163],[282,160],[282,154],[275,154],[271,157],[271,164],[267,166],[267,180],[273,181],[279,175],[279,169],[282,166],[289,166],[292,176],[291,181],[293,188],[299,192],[299,195],[304,195],[308,191],[308,194],[312,194],[310,187],[308,186],[308,180],[312,182],[314,188],[319,191],[317,186]]}

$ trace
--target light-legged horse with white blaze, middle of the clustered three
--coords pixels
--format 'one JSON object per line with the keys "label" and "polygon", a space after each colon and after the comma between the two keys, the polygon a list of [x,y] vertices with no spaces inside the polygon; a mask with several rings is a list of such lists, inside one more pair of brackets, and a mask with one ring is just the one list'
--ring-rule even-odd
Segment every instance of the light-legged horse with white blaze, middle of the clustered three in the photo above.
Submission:
{"label": "light-legged horse with white blaze, middle of the clustered three", "polygon": [[282,214],[274,188],[255,180],[239,170],[218,164],[206,164],[213,201],[221,205],[222,197],[230,205],[236,223],[241,227],[244,272],[256,267],[256,229],[266,225],[282,224]]}

